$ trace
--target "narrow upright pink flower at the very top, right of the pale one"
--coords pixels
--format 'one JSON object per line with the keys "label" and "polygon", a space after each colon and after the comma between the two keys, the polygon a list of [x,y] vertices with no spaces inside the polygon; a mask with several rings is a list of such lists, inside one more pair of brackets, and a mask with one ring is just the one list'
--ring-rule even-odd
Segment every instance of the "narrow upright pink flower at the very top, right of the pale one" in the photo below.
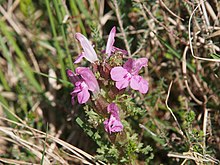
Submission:
{"label": "narrow upright pink flower at the very top, right of the pale one", "polygon": [[123,49],[119,49],[114,47],[114,42],[115,42],[115,35],[116,35],[116,28],[115,26],[111,29],[109,36],[108,36],[108,41],[107,41],[107,45],[106,45],[106,50],[105,53],[108,55],[107,58],[109,58],[111,56],[112,53],[116,52],[116,51],[120,51],[123,54],[127,54],[128,52],[126,50]]}

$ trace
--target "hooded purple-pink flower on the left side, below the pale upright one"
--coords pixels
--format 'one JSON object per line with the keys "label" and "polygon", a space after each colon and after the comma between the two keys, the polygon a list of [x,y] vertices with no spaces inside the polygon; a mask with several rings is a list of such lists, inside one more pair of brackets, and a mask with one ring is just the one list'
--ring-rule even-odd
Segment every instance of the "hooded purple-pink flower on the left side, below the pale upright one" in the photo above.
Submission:
{"label": "hooded purple-pink flower on the left side, below the pale upright one", "polygon": [[74,90],[71,92],[72,104],[74,104],[75,96],[77,96],[78,102],[83,104],[90,98],[89,91],[97,94],[100,90],[98,82],[89,68],[78,67],[76,68],[76,73],[68,69],[67,76],[75,85]]}

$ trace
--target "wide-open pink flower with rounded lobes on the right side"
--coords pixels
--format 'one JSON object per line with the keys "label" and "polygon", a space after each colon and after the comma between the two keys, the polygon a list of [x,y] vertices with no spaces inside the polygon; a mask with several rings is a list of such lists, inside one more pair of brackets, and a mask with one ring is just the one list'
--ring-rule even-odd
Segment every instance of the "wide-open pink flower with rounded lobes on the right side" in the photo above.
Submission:
{"label": "wide-open pink flower with rounded lobes on the right side", "polygon": [[121,90],[130,85],[134,90],[143,94],[147,93],[148,82],[138,75],[138,72],[147,65],[147,62],[147,58],[128,59],[123,67],[112,68],[110,74],[112,80],[116,81],[116,87]]}

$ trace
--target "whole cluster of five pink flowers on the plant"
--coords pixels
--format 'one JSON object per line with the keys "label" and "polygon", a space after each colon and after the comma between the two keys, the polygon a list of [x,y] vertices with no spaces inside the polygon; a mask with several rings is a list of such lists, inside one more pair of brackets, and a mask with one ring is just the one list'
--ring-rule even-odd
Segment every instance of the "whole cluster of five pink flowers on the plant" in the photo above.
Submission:
{"label": "whole cluster of five pink flowers on the plant", "polygon": [[[109,38],[106,44],[105,58],[106,61],[115,52],[121,52],[126,55],[127,51],[116,48],[114,46],[116,35],[116,28],[113,27],[110,31]],[[98,56],[89,42],[89,40],[81,33],[76,33],[75,38],[80,42],[83,52],[77,57],[74,63],[79,63],[83,58],[93,63],[98,64],[100,61]],[[134,90],[138,90],[140,93],[145,94],[148,91],[148,82],[138,75],[142,67],[147,65],[147,58],[140,59],[128,59],[123,66],[116,66],[111,69],[110,76],[115,81],[116,88],[121,90],[130,86]],[[105,63],[105,62],[104,62]],[[90,92],[94,95],[98,95],[100,87],[98,81],[95,78],[93,72],[87,67],[77,67],[75,73],[71,70],[67,70],[67,76],[69,80],[74,84],[74,89],[71,92],[72,104],[77,96],[79,104],[86,103],[90,98]],[[123,125],[119,117],[119,108],[115,103],[111,103],[107,107],[107,112],[110,117],[104,121],[104,128],[106,132],[121,132]]]}

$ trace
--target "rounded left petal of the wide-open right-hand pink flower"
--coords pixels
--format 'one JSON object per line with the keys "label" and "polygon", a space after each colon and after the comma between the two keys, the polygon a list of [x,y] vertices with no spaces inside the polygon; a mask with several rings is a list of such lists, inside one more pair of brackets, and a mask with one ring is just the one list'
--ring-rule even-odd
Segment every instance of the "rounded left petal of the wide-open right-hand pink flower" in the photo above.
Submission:
{"label": "rounded left petal of the wide-open right-hand pink flower", "polygon": [[127,73],[128,71],[121,66],[112,68],[110,72],[111,78],[114,81],[123,81]]}

